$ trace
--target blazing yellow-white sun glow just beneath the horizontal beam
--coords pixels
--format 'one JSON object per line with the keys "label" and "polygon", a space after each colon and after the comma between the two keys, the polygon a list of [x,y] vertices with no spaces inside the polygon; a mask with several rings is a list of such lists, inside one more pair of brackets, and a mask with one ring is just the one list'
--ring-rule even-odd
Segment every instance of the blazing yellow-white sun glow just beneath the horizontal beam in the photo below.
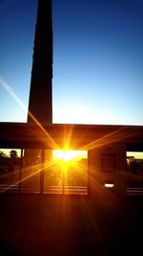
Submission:
{"label": "blazing yellow-white sun glow just beneath the horizontal beam", "polygon": [[65,162],[71,161],[71,160],[79,160],[80,158],[85,156],[85,151],[53,151],[53,157],[55,159],[60,159]]}

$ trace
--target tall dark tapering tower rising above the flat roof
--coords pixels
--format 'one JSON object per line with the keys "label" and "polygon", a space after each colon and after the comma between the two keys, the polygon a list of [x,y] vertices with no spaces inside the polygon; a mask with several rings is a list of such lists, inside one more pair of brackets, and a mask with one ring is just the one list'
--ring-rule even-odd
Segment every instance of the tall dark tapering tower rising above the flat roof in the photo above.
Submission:
{"label": "tall dark tapering tower rising above the flat roof", "polygon": [[51,0],[39,0],[31,69],[28,123],[31,115],[41,124],[52,123],[52,20]]}

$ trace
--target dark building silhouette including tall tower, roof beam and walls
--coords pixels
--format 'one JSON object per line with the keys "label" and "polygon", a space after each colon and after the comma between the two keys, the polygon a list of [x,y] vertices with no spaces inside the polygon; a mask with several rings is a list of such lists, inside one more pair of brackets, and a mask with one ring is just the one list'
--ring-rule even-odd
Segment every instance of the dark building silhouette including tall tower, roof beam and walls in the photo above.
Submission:
{"label": "dark building silhouette including tall tower, roof beam and walls", "polygon": [[[97,126],[52,124],[52,20],[51,0],[39,0],[34,36],[31,92],[28,123],[0,123],[1,149],[21,149],[19,186],[21,177],[25,180],[36,175],[36,192],[45,193],[45,176],[53,174],[46,166],[51,162],[53,150],[69,149],[88,151],[87,195],[92,197],[105,185],[114,185],[119,195],[127,194],[127,151],[143,151],[143,128],[135,126]],[[32,161],[32,168],[23,168],[23,151]],[[30,153],[31,152],[31,153]],[[38,152],[38,153],[37,153]],[[49,156],[47,156],[49,155]],[[30,159],[31,160],[31,159]],[[25,158],[26,161],[26,158]],[[31,161],[30,161],[31,162]],[[36,168],[37,164],[37,168]],[[49,163],[48,163],[49,164]],[[33,168],[34,165],[34,168]],[[49,172],[49,173],[48,173]],[[24,174],[24,175],[23,175]],[[26,175],[25,175],[26,174]],[[49,180],[50,176],[47,177]],[[52,178],[53,179],[53,178]],[[31,182],[34,184],[33,180]],[[49,182],[48,182],[49,183]],[[7,184],[9,187],[9,184]],[[31,192],[34,190],[30,189]],[[65,189],[62,190],[65,192]]]}

